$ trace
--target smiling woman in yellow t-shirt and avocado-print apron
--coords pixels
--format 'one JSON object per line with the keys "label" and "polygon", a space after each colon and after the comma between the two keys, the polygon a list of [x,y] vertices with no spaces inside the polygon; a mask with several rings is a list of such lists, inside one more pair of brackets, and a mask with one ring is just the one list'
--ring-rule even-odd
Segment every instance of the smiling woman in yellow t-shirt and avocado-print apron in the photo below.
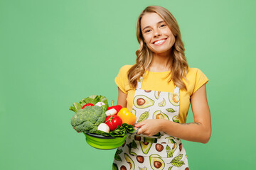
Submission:
{"label": "smiling woman in yellow t-shirt and avocado-print apron", "polygon": [[[188,169],[182,140],[210,139],[207,77],[189,68],[174,16],[148,6],[137,21],[137,62],[125,65],[115,82],[117,104],[137,116],[136,135],[117,149],[113,169]],[[194,123],[186,123],[191,103]]]}

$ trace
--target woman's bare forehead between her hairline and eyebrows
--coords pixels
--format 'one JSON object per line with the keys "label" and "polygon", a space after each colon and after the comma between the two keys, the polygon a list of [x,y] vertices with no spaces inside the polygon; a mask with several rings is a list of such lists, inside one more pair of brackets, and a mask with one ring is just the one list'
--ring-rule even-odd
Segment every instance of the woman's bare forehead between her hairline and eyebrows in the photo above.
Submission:
{"label": "woman's bare forehead between her hairline and eyebrows", "polygon": [[146,26],[154,26],[159,21],[164,21],[163,18],[159,16],[157,13],[145,13],[144,16],[142,16],[141,19],[141,27],[142,29]]}

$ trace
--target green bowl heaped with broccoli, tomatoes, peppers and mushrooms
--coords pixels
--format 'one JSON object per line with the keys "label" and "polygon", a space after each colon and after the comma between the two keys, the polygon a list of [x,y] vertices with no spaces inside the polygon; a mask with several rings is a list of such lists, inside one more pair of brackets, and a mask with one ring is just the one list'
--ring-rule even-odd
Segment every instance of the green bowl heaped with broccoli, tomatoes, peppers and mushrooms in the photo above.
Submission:
{"label": "green bowl heaped with broccoli, tomatoes, peppers and mushrooms", "polygon": [[97,149],[115,149],[124,144],[129,133],[134,133],[136,116],[122,106],[109,107],[107,98],[89,96],[79,103],[73,103],[70,111],[75,115],[71,125],[77,132],[83,132],[86,142]]}

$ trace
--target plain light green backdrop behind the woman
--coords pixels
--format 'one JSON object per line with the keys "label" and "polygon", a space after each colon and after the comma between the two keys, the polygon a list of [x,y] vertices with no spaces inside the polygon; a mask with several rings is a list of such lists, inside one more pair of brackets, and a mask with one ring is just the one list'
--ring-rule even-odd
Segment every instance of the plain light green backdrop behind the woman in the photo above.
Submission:
{"label": "plain light green backdrop behind the woman", "polygon": [[92,94],[117,101],[149,5],[174,14],[189,66],[210,80],[213,131],[183,141],[190,169],[255,168],[255,1],[0,0],[0,169],[111,169],[114,150],[87,145],[68,108]]}

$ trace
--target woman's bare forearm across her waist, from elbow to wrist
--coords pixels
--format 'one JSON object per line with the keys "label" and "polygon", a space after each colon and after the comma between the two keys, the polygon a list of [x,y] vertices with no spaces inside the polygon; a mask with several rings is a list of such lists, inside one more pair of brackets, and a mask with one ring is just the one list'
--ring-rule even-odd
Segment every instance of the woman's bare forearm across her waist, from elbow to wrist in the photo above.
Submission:
{"label": "woman's bare forearm across her waist, from elbow to wrist", "polygon": [[203,123],[174,123],[170,120],[163,120],[161,131],[168,135],[178,137],[182,140],[207,143],[210,140],[210,127]]}

